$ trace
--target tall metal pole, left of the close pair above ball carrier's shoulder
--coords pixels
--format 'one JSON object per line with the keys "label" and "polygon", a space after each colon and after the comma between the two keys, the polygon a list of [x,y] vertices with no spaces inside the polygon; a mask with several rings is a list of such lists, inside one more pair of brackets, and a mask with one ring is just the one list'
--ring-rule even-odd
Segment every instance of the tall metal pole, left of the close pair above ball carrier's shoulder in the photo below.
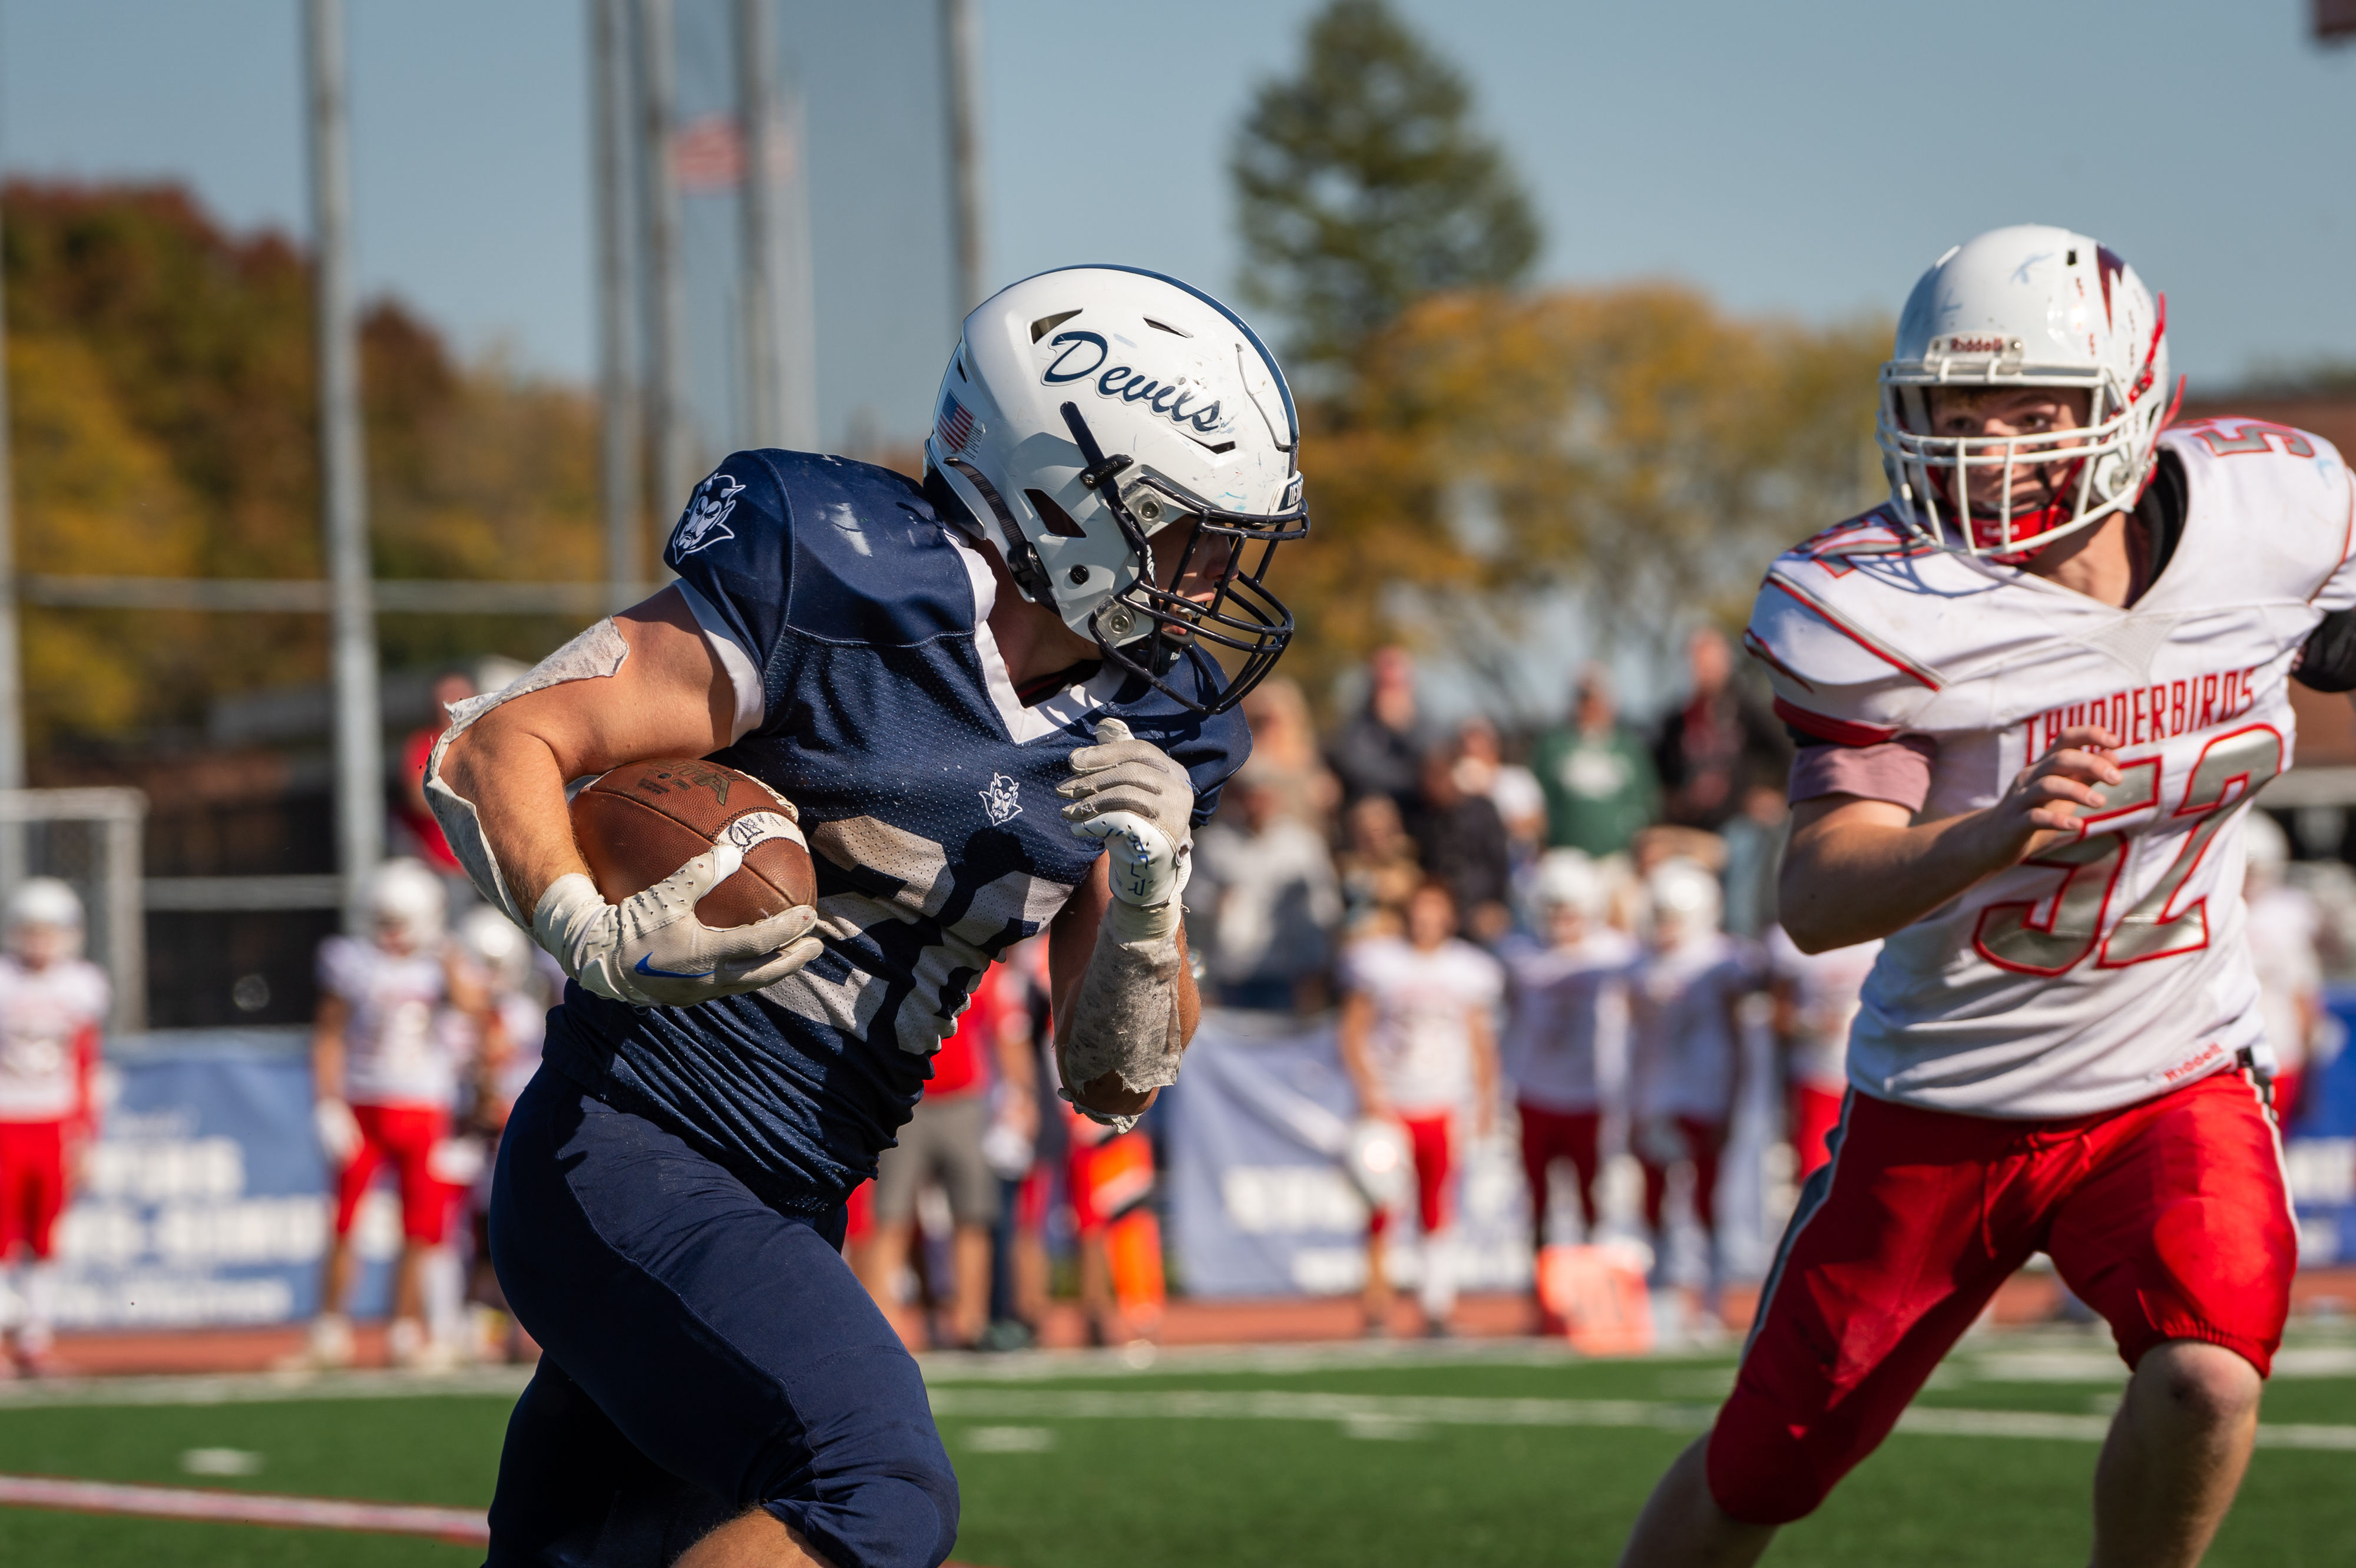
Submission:
{"label": "tall metal pole, left of the close pair above ball carrier's shoulder", "polygon": [[605,607],[638,596],[638,516],[646,504],[638,424],[638,247],[631,235],[629,0],[589,0],[591,99],[596,106],[598,487],[605,511]]}

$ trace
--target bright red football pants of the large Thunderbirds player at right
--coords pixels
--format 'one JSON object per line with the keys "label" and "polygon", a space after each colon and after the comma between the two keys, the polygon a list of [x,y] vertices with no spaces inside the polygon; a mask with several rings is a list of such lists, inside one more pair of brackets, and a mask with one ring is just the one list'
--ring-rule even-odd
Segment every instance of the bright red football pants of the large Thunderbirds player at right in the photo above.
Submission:
{"label": "bright red football pants of the large Thunderbirds player at right", "polygon": [[1748,1523],[1814,1511],[2040,1250],[2130,1368],[2201,1340],[2269,1373],[2297,1234],[2257,1088],[2215,1074],[2064,1121],[1849,1095],[1710,1431],[1718,1507]]}

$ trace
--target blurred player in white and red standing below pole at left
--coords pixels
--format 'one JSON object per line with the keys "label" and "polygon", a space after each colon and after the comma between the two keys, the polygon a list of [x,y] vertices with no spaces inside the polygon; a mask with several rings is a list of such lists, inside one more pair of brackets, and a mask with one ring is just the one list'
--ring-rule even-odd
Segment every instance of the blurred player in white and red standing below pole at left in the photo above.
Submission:
{"label": "blurred player in white and red standing below pole at left", "polygon": [[459,1097],[457,1034],[443,1010],[485,1019],[483,994],[443,932],[441,878],[415,859],[389,859],[370,878],[368,911],[375,930],[327,937],[318,946],[318,1022],[311,1034],[311,1076],[318,1092],[318,1135],[337,1170],[335,1241],[320,1281],[320,1316],[311,1326],[311,1361],[351,1361],[351,1300],[356,1257],[351,1227],[379,1165],[401,1184],[401,1264],[393,1276],[393,1323],[386,1337],[396,1366],[448,1354],[424,1326],[431,1253],[450,1234],[457,1170],[448,1154],[450,1111]]}

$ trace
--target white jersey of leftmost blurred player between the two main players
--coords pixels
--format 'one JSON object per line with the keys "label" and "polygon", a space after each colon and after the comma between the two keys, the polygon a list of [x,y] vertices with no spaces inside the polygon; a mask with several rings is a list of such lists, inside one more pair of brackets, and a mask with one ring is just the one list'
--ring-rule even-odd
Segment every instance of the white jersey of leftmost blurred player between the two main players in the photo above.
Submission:
{"label": "white jersey of leftmost blurred player between the two main players", "polygon": [[1402,1116],[1437,1116],[1472,1102],[1472,1012],[1505,998],[1496,958],[1470,942],[1430,954],[1404,937],[1343,951],[1343,989],[1374,1003],[1366,1041],[1374,1076]]}

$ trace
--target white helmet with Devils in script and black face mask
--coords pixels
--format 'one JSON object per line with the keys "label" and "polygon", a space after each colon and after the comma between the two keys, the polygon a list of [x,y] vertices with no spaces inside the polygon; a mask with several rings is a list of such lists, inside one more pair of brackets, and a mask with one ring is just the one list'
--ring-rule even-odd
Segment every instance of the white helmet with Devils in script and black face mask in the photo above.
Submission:
{"label": "white helmet with Devils in script and black face mask", "polygon": [[[1284,372],[1242,315],[1162,273],[1065,266],[966,318],[924,457],[1023,598],[1176,702],[1223,713],[1293,636],[1263,579],[1275,546],[1310,530],[1298,447]],[[1209,605],[1154,579],[1147,542],[1173,525],[1192,530],[1173,582],[1213,567]],[[1180,657],[1202,662],[1211,699],[1164,683]]]}

